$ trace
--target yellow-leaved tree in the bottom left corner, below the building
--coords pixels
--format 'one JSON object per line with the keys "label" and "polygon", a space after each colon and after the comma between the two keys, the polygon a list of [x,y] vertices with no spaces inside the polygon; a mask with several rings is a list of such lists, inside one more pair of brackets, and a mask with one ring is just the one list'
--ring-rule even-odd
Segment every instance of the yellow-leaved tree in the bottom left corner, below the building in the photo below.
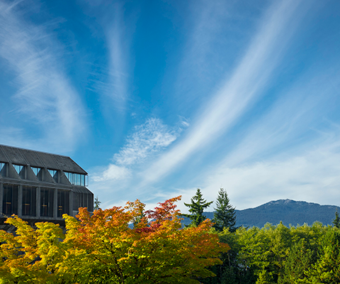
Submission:
{"label": "yellow-leaved tree in the bottom left corner, below the building", "polygon": [[0,231],[0,283],[73,283],[77,271],[64,273],[67,244],[58,225],[39,222],[33,229],[18,217],[6,223],[16,226],[16,236]]}

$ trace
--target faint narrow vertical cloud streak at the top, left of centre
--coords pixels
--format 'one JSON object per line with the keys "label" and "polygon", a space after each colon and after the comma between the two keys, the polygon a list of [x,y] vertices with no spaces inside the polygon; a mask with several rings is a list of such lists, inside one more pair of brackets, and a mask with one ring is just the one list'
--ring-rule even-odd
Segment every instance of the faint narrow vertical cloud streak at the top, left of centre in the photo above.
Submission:
{"label": "faint narrow vertical cloud streak at the top, left of centre", "polygon": [[[79,1],[79,4],[83,4]],[[129,99],[130,40],[135,17],[125,15],[125,1],[87,1],[87,13],[94,16],[102,28],[105,41],[105,65],[98,66],[100,72],[92,74],[95,92],[101,94],[103,109],[115,109],[124,114]],[[112,111],[108,111],[111,112]]]}

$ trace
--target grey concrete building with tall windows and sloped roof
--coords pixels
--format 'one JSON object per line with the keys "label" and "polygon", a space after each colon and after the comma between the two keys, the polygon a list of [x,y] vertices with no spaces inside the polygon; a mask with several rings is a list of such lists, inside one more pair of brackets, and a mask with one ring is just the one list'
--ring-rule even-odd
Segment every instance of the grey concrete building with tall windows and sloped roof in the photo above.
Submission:
{"label": "grey concrete building with tall windows and sloped roof", "polygon": [[18,215],[30,224],[63,224],[62,214],[94,211],[89,176],[69,157],[0,145],[0,222]]}

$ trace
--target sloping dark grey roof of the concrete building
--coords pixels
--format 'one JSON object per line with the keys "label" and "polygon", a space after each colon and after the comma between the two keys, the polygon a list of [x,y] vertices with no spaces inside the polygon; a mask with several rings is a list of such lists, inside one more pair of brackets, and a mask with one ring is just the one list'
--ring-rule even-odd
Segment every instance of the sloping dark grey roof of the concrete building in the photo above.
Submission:
{"label": "sloping dark grey roof of the concrete building", "polygon": [[64,155],[55,155],[0,145],[0,162],[16,165],[30,165],[37,168],[63,170],[64,172],[87,175],[77,163]]}

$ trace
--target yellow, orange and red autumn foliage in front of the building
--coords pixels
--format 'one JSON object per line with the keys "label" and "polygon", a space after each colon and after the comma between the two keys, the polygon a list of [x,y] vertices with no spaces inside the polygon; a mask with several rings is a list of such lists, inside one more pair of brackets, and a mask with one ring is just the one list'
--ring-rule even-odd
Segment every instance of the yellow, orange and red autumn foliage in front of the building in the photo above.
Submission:
{"label": "yellow, orange and red autumn foliage in front of the building", "polygon": [[178,200],[148,211],[138,200],[92,215],[80,208],[77,219],[64,215],[65,234],[56,224],[33,229],[8,218],[17,230],[0,231],[0,283],[200,283],[229,246],[209,220],[181,229]]}

